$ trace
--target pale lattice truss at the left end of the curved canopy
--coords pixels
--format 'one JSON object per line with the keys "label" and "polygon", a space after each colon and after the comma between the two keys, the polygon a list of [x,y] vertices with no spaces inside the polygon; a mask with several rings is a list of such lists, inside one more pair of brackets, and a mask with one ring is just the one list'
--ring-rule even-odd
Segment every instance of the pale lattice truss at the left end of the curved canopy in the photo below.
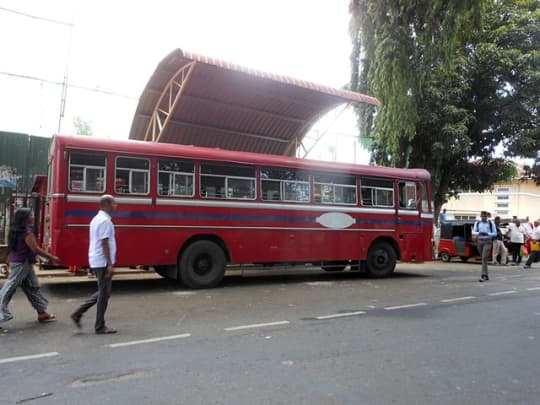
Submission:
{"label": "pale lattice truss at the left end of the curved canopy", "polygon": [[148,126],[146,127],[144,134],[145,141],[159,142],[163,131],[169,124],[171,114],[182,97],[185,84],[193,72],[195,63],[195,61],[187,63],[178,69],[161,92],[150,117],[150,122],[148,122]]}

